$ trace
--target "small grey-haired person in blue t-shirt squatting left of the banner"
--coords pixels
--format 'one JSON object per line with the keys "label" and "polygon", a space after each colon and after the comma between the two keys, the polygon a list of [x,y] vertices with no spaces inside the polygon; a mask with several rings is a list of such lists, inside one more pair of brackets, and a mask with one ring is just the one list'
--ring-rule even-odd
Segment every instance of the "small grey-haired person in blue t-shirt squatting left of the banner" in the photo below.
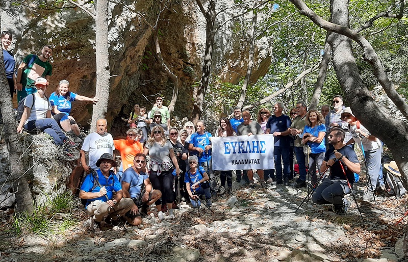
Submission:
{"label": "small grey-haired person in blue t-shirt squatting left of the banner", "polygon": [[206,170],[198,166],[198,158],[192,155],[188,158],[190,169],[184,175],[187,193],[194,208],[201,205],[199,196],[205,195],[208,207],[212,205],[209,177]]}

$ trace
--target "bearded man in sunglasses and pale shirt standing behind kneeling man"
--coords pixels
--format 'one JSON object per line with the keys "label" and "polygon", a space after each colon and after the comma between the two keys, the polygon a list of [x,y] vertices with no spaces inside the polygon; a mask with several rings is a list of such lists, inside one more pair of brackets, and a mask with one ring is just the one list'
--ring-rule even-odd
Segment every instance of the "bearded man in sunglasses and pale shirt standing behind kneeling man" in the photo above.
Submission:
{"label": "bearded man in sunglasses and pale shirt standing behind kneeling man", "polygon": [[[343,97],[341,95],[335,95],[333,98],[333,110],[329,111],[327,116],[326,116],[326,134],[329,134],[331,129],[334,127],[339,127],[344,130],[346,133],[346,137],[344,141],[349,141],[351,139],[351,134],[348,132],[347,126],[348,124],[345,121],[341,120],[341,113],[343,113],[344,107],[344,102],[343,102]],[[354,144],[349,145],[351,148],[353,148]],[[329,147],[331,145],[329,144]]]}

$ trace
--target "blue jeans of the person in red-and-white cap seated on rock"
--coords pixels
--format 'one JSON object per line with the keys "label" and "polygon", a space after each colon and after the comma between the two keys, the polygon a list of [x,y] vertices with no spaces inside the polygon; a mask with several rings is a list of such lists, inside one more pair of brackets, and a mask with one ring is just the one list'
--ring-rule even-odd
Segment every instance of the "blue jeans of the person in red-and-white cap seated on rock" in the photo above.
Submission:
{"label": "blue jeans of the person in red-and-white cap seated on rock", "polygon": [[29,132],[40,130],[41,132],[52,136],[54,139],[54,144],[56,145],[64,144],[64,140],[67,138],[54,118],[31,120],[24,125],[24,129],[28,130]]}

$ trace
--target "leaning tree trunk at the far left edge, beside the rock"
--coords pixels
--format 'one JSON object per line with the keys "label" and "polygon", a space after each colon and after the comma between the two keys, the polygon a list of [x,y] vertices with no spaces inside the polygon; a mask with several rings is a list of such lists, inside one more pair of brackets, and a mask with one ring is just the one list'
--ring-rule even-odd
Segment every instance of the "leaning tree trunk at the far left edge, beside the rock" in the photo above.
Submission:
{"label": "leaning tree trunk at the far left edge, beside the rock", "polygon": [[[0,17],[0,28],[2,25]],[[16,196],[16,211],[27,211],[33,213],[33,197],[27,178],[24,175],[25,168],[22,163],[22,145],[17,137],[17,125],[14,117],[13,105],[11,103],[9,84],[6,78],[3,52],[0,52],[0,107],[2,109],[4,134],[10,160],[10,177]],[[3,193],[3,192],[2,192]]]}

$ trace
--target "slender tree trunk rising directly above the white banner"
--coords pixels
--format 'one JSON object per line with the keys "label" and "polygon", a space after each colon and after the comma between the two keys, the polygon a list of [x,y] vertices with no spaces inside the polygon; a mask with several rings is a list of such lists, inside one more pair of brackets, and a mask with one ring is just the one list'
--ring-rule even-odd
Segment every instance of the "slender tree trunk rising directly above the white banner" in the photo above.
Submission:
{"label": "slender tree trunk rising directly above the white banner", "polygon": [[[255,8],[258,6],[258,1],[253,3],[253,7]],[[253,68],[253,58],[255,53],[255,32],[257,31],[257,11],[254,9],[252,10],[252,27],[251,27],[251,34],[249,37],[249,57],[248,57],[248,68],[246,69],[246,74],[244,78],[244,83],[242,84],[241,88],[241,96],[238,100],[237,107],[242,108],[244,105],[245,97],[246,97],[246,90],[249,84],[249,78],[251,77],[252,68]]]}

